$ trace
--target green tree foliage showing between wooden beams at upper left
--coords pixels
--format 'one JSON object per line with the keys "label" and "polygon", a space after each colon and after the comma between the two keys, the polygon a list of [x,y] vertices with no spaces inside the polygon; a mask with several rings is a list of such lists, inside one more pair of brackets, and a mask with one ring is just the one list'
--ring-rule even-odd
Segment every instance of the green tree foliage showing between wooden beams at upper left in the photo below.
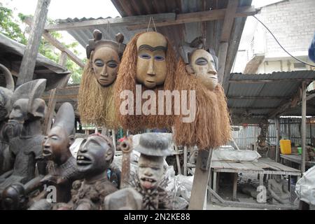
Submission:
{"label": "green tree foliage showing between wooden beams at upper left", "polygon": [[[18,41],[19,43],[26,45],[27,37],[25,36],[25,33],[22,31],[22,29],[20,29],[20,25],[22,25],[22,22],[25,20],[25,18],[27,18],[27,15],[19,13],[18,20],[15,20],[13,16],[13,10],[3,7],[2,3],[0,3],[0,33],[8,36],[9,38],[12,38],[15,41]],[[48,24],[52,23],[54,23],[54,21],[48,18]],[[62,38],[62,34],[58,33],[57,31],[52,31],[50,32],[50,34],[58,40]],[[69,48],[69,50],[71,50],[74,54],[78,55],[78,50],[76,50],[76,47],[78,46],[77,42],[62,44],[64,44],[66,48]],[[48,41],[45,41],[44,38],[41,38],[38,52],[45,57],[51,59],[53,62],[59,62],[61,52],[59,50],[56,50],[56,48]],[[83,69],[81,69],[78,64],[71,61],[71,59],[68,59],[66,61],[66,69],[71,71],[70,83],[79,84]]]}

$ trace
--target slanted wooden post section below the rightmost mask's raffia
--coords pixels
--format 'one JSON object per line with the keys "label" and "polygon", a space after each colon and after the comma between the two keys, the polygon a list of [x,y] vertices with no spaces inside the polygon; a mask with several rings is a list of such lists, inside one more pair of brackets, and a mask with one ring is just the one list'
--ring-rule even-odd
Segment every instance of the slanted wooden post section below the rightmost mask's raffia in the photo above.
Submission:
{"label": "slanted wooden post section below the rightmost mask's raffia", "polygon": [[200,150],[198,153],[189,210],[202,210],[204,208],[211,169],[211,157],[212,149],[209,149],[209,151]]}

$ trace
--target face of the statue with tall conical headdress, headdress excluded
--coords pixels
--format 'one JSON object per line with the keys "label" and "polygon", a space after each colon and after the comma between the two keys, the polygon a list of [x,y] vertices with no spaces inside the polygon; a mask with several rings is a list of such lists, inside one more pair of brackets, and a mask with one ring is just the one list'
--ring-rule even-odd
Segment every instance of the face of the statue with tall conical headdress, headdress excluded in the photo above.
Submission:
{"label": "face of the statue with tall conical headdress, headdress excluded", "polygon": [[57,163],[66,162],[61,160],[62,155],[69,150],[69,146],[70,141],[66,131],[60,126],[52,127],[43,141],[43,156]]}

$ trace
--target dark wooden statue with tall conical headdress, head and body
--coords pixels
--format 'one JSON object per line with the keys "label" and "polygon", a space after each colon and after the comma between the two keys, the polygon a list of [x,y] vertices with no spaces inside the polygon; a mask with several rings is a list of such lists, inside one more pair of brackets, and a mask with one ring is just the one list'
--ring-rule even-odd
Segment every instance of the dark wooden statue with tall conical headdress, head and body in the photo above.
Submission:
{"label": "dark wooden statue with tall conical headdress, head and body", "polygon": [[[73,181],[82,179],[82,174],[78,172],[76,166],[76,158],[73,158],[69,147],[74,141],[74,111],[73,107],[69,103],[64,103],[59,108],[55,123],[52,125],[51,130],[48,132],[48,136],[43,140],[43,157],[46,160],[53,162],[53,167],[50,168],[49,173],[46,176],[38,176],[32,179],[27,184],[27,192],[31,192],[35,189],[30,189],[33,186],[55,186],[56,189],[56,201],[69,202],[71,200],[71,187]],[[43,192],[36,197],[36,200],[46,200],[48,191]],[[39,208],[39,204],[43,202],[35,202],[32,207]]]}

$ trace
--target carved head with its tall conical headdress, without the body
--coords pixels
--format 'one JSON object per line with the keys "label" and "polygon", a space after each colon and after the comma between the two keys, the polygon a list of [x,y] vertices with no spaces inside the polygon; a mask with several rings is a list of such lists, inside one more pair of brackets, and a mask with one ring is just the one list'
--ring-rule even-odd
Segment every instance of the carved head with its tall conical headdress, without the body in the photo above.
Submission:
{"label": "carved head with its tall conical headdress, without the body", "polygon": [[71,157],[69,147],[74,141],[74,111],[69,103],[60,106],[55,123],[43,141],[43,156],[58,165]]}

